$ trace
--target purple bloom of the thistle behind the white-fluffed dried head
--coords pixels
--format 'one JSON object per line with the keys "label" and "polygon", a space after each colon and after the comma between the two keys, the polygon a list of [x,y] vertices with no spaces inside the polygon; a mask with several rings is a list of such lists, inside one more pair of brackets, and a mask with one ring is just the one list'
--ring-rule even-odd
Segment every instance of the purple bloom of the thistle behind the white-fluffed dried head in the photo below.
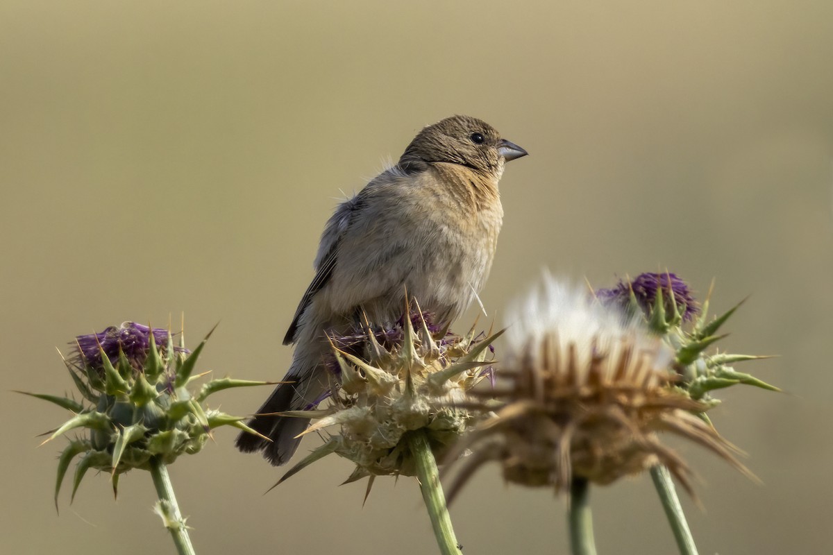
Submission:
{"label": "purple bloom of the thistle behind the white-fluffed dried head", "polygon": [[[684,322],[692,320],[700,312],[691,290],[685,281],[676,274],[646,272],[637,275],[634,280],[620,280],[611,289],[596,290],[596,297],[606,304],[620,305],[627,308],[631,304],[631,291],[636,302],[646,315],[651,314],[651,308],[656,302],[658,291],[662,291],[666,313],[676,309]],[[673,304],[672,304],[673,303]]]}

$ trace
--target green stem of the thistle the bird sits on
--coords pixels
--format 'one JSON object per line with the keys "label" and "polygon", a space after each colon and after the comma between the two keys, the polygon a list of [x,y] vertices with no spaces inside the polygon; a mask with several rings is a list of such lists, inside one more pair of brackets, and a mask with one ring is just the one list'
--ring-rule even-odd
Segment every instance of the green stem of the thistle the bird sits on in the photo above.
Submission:
{"label": "green stem of the thistle the bird sits on", "polygon": [[416,461],[416,478],[419,479],[422,499],[428,509],[428,516],[431,518],[431,526],[434,528],[440,553],[461,555],[460,548],[457,547],[454,528],[451,527],[451,517],[446,507],[446,495],[442,493],[440,473],[436,469],[436,460],[434,453],[431,453],[431,445],[428,443],[426,434],[422,430],[410,432],[407,434],[407,442]]}

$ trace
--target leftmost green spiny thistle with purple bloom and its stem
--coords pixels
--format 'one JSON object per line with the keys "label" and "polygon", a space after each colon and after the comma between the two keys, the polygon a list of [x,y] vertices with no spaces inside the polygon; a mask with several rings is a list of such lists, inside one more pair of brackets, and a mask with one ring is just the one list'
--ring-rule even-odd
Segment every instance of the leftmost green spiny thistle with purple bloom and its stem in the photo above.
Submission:
{"label": "leftmost green spiny thistle with purple bloom and its stem", "polygon": [[56,508],[63,479],[78,456],[72,479],[73,499],[91,468],[110,474],[114,495],[123,473],[134,468],[147,470],[159,497],[155,511],[170,530],[178,553],[194,553],[167,465],[182,454],[198,453],[212,430],[220,426],[254,433],[243,424],[242,417],[206,409],[202,403],[222,389],[268,383],[212,379],[197,391],[189,389],[205,375],[193,372],[210,335],[193,351],[185,348],[182,334],[175,345],[169,330],[134,322],[76,338],[74,354],[62,359],[82,401],[28,394],[72,413],[64,424],[47,432],[49,437],[43,444],[72,430],[86,430],[71,439],[58,458]]}

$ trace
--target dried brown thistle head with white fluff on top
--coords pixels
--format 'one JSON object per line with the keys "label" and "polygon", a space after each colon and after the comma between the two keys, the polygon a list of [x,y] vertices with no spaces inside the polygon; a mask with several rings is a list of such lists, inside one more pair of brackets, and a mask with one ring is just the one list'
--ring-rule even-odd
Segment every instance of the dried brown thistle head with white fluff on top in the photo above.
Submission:
{"label": "dried brown thistle head with white fluff on top", "polygon": [[705,405],[674,387],[672,357],[617,310],[546,280],[510,328],[496,389],[477,393],[493,416],[451,453],[471,450],[449,499],[489,461],[501,464],[508,482],[556,493],[569,490],[573,477],[606,484],[660,463],[692,493],[690,468],[661,443],[661,432],[746,472],[736,449],[696,416]]}

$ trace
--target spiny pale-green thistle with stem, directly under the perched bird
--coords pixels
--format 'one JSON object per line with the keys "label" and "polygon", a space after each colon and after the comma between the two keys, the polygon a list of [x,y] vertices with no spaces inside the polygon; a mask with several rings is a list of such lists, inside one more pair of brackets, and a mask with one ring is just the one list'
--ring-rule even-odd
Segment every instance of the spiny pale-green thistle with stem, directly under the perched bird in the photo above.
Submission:
{"label": "spiny pale-green thistle with stem, directly under the perched bird", "polygon": [[[416,306],[392,327],[371,325],[332,337],[332,389],[324,409],[286,418],[317,419],[305,434],[337,426],[281,483],[330,453],[355,463],[345,483],[377,476],[416,476],[441,553],[460,553],[436,468],[480,413],[467,409],[472,388],[491,378],[486,360],[502,332],[460,336],[431,323]],[[415,330],[416,329],[416,330]],[[277,484],[275,484],[277,485]]]}

